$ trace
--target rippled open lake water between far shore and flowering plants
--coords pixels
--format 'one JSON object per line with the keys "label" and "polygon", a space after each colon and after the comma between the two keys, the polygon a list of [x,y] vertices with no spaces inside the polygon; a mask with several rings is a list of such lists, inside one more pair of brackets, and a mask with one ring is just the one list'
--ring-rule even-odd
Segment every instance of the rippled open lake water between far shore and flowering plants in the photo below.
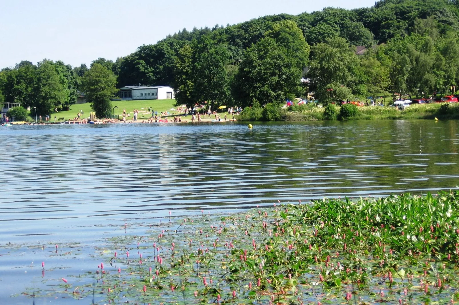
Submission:
{"label": "rippled open lake water between far shore and flowering plants", "polygon": [[[459,185],[458,121],[50,125],[0,129],[1,304],[81,272],[126,222]],[[123,231],[124,233],[124,231]],[[51,256],[55,244],[59,255]],[[79,244],[83,250],[72,252]],[[69,261],[72,264],[69,264]],[[70,266],[69,266],[70,265]],[[39,285],[36,283],[36,285]],[[54,297],[35,304],[63,304]],[[87,302],[66,300],[66,304]]]}

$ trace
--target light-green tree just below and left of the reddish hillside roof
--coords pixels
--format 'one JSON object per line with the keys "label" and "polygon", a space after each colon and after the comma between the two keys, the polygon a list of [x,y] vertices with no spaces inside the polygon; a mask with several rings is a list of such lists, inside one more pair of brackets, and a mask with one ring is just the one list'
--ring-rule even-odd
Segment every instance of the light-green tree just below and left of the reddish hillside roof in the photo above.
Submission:
{"label": "light-green tree just below and left of the reddish hillside roof", "polygon": [[315,97],[324,104],[352,98],[358,85],[358,67],[355,48],[346,39],[336,37],[328,44],[315,45],[308,71]]}

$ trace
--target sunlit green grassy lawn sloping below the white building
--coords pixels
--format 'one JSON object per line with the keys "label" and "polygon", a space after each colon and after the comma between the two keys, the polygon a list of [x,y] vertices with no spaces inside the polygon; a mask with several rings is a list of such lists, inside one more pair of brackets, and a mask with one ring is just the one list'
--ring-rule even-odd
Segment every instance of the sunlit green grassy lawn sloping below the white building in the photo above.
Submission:
{"label": "sunlit green grassy lawn sloping below the white building", "polygon": [[[133,111],[134,109],[139,109],[139,119],[140,118],[149,118],[151,117],[151,112],[148,112],[148,107],[151,107],[155,111],[158,111],[158,114],[161,113],[161,111],[166,111],[171,108],[176,109],[174,106],[175,104],[175,99],[148,99],[148,100],[138,100],[138,101],[112,101],[112,107],[117,106],[119,114],[123,114],[123,109],[126,109],[127,113],[130,113],[131,118],[133,116]],[[89,117],[89,113],[92,110],[90,103],[84,103],[84,104],[75,104],[70,106],[70,110],[68,111],[59,111],[52,113],[50,115],[50,121],[54,121],[54,116],[56,116],[56,120],[59,120],[59,118],[65,118],[65,120],[68,119],[73,119],[74,117],[77,116],[78,112],[80,110],[83,110],[84,112],[84,118]],[[146,111],[146,112],[142,112]],[[176,112],[171,112],[171,114],[174,114]],[[118,114],[117,110],[115,109],[115,115]],[[31,115],[35,117],[35,114]],[[43,118],[44,119],[44,118]]]}

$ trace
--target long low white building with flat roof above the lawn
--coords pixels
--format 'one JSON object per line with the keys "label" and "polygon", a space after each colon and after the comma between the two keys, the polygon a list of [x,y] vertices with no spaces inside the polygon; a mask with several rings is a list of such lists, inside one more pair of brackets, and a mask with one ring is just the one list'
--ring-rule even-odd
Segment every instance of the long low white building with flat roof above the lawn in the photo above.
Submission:
{"label": "long low white building with flat roof above the lawn", "polygon": [[131,99],[170,99],[174,98],[174,89],[168,86],[136,87],[125,86],[119,89],[118,96]]}

